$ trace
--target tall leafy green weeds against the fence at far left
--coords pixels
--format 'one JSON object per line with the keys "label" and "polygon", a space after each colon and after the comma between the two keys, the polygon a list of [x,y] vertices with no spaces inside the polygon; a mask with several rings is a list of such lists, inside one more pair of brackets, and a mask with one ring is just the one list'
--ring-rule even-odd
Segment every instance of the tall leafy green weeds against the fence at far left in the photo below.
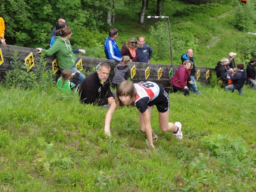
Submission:
{"label": "tall leafy green weeds against the fence at far left", "polygon": [[7,87],[48,87],[53,84],[53,72],[47,66],[47,62],[40,56],[39,62],[35,62],[33,68],[27,72],[27,67],[20,60],[19,53],[13,53],[11,70],[7,71],[5,76],[5,85]]}

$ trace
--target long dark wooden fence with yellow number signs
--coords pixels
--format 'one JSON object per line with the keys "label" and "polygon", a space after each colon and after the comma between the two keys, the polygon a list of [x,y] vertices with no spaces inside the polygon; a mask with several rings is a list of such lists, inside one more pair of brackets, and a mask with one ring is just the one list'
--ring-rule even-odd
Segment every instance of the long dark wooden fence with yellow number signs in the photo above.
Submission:
{"label": "long dark wooden fence with yellow number signs", "polygon": [[[12,63],[11,57],[13,57],[12,54],[14,53],[15,50],[19,53],[20,60],[24,60],[24,63],[25,63],[25,58],[30,53],[33,53],[35,63],[39,61],[39,57],[40,57],[36,49],[27,48],[27,47],[20,47],[15,45],[0,45],[0,50],[2,53],[2,58],[0,58],[0,63],[2,63],[0,64],[0,79],[4,79],[4,75],[6,74],[6,71],[11,69],[11,63]],[[45,60],[47,61],[47,65],[49,65],[49,68],[52,68],[52,62],[55,58],[56,58],[55,56],[45,57]],[[95,68],[100,62],[108,63],[111,66],[111,72],[109,75],[110,79],[113,79],[114,68],[118,64],[118,62],[114,60],[100,59],[100,58],[80,56],[80,55],[77,55],[77,59],[82,60],[83,69],[86,69],[86,70],[91,70],[92,68]],[[138,62],[129,62],[128,66],[130,69],[132,69],[132,67],[135,66],[136,74],[132,78],[133,82],[139,82],[144,80],[153,81],[155,83],[162,84],[163,87],[166,87],[166,89],[170,87],[170,83],[169,83],[170,69],[173,68],[173,74],[174,74],[177,68],[179,68],[179,65],[171,66],[166,64],[147,64],[147,63],[138,63]],[[36,67],[36,64],[34,67]],[[148,67],[149,69],[147,70],[147,79],[146,79],[145,70]],[[159,71],[160,68],[162,69],[161,73]],[[211,72],[214,72],[214,69],[196,67],[196,72],[197,74],[195,75],[195,77],[199,75],[199,78],[197,79],[197,81],[199,81],[201,84],[209,84]],[[60,74],[56,73],[56,75],[59,76]]]}

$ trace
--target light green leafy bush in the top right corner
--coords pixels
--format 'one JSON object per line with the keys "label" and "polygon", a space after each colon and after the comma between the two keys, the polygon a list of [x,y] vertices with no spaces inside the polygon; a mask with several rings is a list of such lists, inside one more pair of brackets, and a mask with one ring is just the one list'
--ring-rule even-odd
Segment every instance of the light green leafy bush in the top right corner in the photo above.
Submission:
{"label": "light green leafy bush in the top right corner", "polygon": [[249,32],[255,29],[256,13],[254,1],[247,4],[241,4],[240,1],[234,3],[234,21],[233,25],[241,31]]}

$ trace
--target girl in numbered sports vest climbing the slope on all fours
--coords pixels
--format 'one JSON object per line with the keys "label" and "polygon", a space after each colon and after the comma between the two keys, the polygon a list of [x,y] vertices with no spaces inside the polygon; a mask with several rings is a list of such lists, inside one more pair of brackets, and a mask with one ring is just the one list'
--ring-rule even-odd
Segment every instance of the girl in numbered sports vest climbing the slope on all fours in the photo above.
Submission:
{"label": "girl in numbered sports vest climbing the slope on all fours", "polygon": [[154,105],[158,109],[159,126],[162,132],[173,132],[173,136],[182,139],[181,123],[169,121],[169,94],[161,85],[154,82],[132,83],[123,81],[117,87],[115,102],[110,106],[105,117],[105,133],[110,135],[110,121],[119,106],[136,106],[139,110],[140,128],[146,132],[147,140],[154,149],[151,129],[151,113]]}

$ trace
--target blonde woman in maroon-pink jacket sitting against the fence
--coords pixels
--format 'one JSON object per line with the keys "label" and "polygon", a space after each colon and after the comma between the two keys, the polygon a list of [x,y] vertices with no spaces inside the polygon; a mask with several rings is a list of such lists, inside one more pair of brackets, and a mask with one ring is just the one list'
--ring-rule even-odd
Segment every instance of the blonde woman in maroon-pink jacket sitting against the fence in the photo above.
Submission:
{"label": "blonde woman in maroon-pink jacket sitting against the fence", "polygon": [[189,90],[187,87],[187,82],[192,84],[190,79],[190,70],[193,68],[191,60],[185,60],[183,65],[181,65],[177,72],[174,73],[171,84],[173,86],[173,92],[176,93],[178,90],[184,92],[185,96],[189,95]]}

